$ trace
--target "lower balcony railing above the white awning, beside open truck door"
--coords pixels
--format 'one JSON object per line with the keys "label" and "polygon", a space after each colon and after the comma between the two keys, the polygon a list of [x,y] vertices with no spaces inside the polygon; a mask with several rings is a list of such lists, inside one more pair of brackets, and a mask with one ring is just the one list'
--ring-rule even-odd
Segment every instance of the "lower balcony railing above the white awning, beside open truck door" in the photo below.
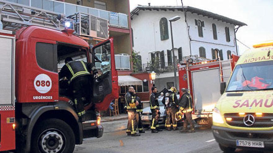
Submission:
{"label": "lower balcony railing above the white awning, beside open truck door", "polygon": [[130,55],[116,54],[115,64],[117,70],[130,70]]}

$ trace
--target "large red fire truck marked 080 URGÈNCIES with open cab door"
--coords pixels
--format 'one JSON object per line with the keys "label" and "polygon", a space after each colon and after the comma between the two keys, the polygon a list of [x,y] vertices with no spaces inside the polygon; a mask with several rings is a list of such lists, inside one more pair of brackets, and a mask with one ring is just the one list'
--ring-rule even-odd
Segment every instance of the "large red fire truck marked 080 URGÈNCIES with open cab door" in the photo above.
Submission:
{"label": "large red fire truck marked 080 URG\u00c8NCIES with open cab door", "polygon": [[[0,151],[67,153],[83,138],[102,136],[96,111],[107,109],[118,97],[113,38],[91,48],[73,32],[39,26],[16,33],[0,30]],[[100,61],[95,50],[101,51]],[[101,65],[83,123],[58,77],[66,57]]]}

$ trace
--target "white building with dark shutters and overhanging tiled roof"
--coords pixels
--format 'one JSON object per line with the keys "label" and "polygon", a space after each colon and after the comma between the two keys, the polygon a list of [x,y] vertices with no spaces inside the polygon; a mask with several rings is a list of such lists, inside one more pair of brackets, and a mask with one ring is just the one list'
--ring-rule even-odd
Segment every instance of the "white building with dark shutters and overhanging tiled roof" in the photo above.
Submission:
{"label": "white building with dark shutters and overhanging tiled roof", "polygon": [[[229,59],[230,54],[238,53],[235,41],[236,28],[246,25],[190,6],[184,6],[184,8],[181,6],[137,6],[131,11],[132,41],[133,49],[140,52],[139,58],[144,64],[142,68],[145,69],[145,63],[154,62],[154,57],[158,57],[160,68],[169,68],[169,72],[156,76],[155,86],[159,89],[168,88],[174,84],[174,74],[170,68],[172,42],[168,19],[177,15],[181,19],[172,22],[172,31],[175,56],[179,61],[182,57],[189,55],[214,59],[214,49],[220,50],[221,60]],[[179,87],[178,83],[177,87]]]}

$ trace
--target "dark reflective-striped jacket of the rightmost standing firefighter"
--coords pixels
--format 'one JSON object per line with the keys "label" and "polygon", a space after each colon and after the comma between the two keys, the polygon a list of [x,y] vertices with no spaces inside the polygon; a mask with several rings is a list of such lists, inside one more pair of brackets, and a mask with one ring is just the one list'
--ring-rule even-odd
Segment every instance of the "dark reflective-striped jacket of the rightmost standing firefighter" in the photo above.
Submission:
{"label": "dark reflective-striped jacket of the rightmost standing firefighter", "polygon": [[182,97],[179,100],[179,109],[183,113],[189,113],[193,110],[192,107],[192,99],[189,93],[185,93],[182,95]]}

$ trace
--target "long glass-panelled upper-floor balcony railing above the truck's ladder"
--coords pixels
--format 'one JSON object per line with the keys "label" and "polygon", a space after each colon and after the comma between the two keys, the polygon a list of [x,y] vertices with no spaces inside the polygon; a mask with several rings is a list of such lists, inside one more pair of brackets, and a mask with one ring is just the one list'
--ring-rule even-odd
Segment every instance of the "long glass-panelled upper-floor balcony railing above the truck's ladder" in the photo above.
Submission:
{"label": "long glass-panelled upper-floor balcony railing above the truck's ladder", "polygon": [[80,6],[54,0],[6,0],[6,1],[32,6],[48,11],[53,11],[65,14],[66,16],[73,15],[76,12],[83,12],[108,20],[110,26],[128,28],[128,15],[123,13],[110,12],[92,7]]}

